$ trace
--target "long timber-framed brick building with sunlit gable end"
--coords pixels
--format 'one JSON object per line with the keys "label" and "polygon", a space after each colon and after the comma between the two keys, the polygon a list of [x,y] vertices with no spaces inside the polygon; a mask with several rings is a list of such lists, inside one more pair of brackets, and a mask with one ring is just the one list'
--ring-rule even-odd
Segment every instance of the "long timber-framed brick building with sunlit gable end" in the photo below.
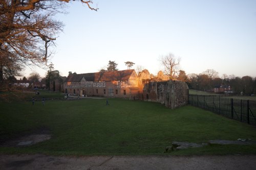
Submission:
{"label": "long timber-framed brick building with sunlit gable end", "polygon": [[63,89],[71,95],[134,98],[139,93],[138,76],[134,69],[70,74]]}

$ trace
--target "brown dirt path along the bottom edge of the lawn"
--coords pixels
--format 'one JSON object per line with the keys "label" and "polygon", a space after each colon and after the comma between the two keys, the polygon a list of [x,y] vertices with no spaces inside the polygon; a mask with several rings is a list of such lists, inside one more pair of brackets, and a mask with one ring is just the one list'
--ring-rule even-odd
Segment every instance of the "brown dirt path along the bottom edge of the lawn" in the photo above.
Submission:
{"label": "brown dirt path along the bottom edge of the lawn", "polygon": [[255,169],[254,156],[0,155],[0,169]]}

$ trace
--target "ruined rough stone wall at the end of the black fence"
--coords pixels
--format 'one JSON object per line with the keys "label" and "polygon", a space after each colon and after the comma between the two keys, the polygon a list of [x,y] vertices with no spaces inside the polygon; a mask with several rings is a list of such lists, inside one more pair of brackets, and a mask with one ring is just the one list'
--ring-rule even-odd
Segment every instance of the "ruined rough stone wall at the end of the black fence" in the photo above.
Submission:
{"label": "ruined rough stone wall at the end of the black fence", "polygon": [[148,82],[143,87],[143,100],[159,102],[169,108],[188,103],[188,87],[181,81]]}

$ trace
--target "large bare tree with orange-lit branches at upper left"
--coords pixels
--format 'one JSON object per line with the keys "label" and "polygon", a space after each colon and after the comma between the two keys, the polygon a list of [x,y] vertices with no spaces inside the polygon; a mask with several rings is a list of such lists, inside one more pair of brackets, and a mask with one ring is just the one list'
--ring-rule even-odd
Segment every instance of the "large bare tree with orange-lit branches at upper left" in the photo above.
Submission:
{"label": "large bare tree with orange-lit branches at upper left", "polygon": [[[63,24],[53,16],[65,13],[70,0],[0,0],[0,81],[5,68],[47,64],[51,46]],[[80,1],[91,10],[92,1]],[[14,61],[14,62],[13,62]]]}

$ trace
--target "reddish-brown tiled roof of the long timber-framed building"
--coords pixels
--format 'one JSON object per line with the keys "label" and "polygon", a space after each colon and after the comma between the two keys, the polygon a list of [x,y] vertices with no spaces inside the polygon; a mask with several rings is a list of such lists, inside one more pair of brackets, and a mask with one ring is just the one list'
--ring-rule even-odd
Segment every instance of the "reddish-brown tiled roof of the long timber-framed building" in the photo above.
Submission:
{"label": "reddish-brown tiled roof of the long timber-framed building", "polygon": [[91,72],[86,74],[70,74],[65,82],[80,82],[82,78],[86,81],[115,81],[128,80],[134,69],[126,69],[120,71]]}

